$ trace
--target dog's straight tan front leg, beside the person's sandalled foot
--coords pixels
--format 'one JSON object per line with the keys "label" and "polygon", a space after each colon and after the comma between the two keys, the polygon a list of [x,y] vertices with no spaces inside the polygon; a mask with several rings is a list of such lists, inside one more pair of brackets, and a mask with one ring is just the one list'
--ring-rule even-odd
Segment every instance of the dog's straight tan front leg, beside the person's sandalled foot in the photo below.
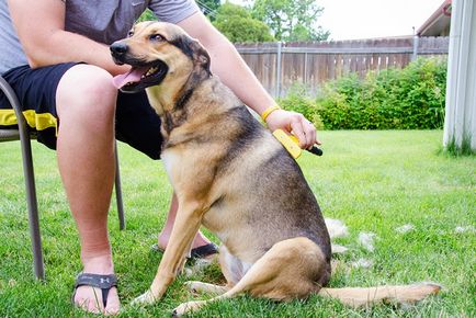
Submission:
{"label": "dog's straight tan front leg, beside the person's sandalled foot", "polygon": [[152,304],[160,299],[182,269],[186,253],[200,229],[203,209],[199,204],[179,202],[175,222],[163,258],[150,288],[133,304]]}

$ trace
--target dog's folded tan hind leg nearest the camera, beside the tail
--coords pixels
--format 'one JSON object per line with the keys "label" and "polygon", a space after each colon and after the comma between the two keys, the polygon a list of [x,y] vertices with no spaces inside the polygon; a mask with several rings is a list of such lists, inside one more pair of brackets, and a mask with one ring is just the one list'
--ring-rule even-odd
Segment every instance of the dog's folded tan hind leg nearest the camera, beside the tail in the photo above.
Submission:
{"label": "dog's folded tan hind leg nearest the camera, beside the tail", "polygon": [[329,277],[330,264],[321,249],[307,238],[292,238],[275,243],[225,294],[208,300],[181,304],[173,310],[173,316],[182,316],[241,293],[276,300],[304,298],[319,289],[316,282],[325,284]]}

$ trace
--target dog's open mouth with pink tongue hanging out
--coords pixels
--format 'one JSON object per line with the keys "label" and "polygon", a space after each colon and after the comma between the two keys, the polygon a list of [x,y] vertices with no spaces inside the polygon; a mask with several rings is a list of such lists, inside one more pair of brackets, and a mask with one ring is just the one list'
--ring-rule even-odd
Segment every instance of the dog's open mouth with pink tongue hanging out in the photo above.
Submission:
{"label": "dog's open mouth with pink tongue hanging out", "polygon": [[123,92],[138,92],[159,84],[168,69],[161,60],[147,66],[133,66],[128,72],[114,77],[113,84]]}

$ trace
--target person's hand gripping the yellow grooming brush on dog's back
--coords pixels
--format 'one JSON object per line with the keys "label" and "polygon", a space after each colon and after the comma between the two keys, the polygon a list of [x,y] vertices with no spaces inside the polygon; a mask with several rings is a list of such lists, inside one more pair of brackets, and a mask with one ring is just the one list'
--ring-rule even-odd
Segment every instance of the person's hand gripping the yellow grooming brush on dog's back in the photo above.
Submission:
{"label": "person's hand gripping the yellow grooming brush on dog's back", "polygon": [[265,122],[271,132],[283,129],[296,136],[299,139],[302,149],[308,149],[315,144],[321,144],[316,139],[316,127],[299,113],[276,110],[267,116]]}

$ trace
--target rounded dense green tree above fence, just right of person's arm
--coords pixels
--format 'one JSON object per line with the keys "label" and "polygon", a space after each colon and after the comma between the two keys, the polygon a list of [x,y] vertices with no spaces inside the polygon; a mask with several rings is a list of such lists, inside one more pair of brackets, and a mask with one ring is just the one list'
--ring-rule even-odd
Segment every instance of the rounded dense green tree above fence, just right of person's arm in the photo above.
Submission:
{"label": "rounded dense green tree above fence, just right of person's arm", "polygon": [[230,42],[270,42],[274,41],[270,27],[256,20],[243,7],[224,3],[213,22]]}

